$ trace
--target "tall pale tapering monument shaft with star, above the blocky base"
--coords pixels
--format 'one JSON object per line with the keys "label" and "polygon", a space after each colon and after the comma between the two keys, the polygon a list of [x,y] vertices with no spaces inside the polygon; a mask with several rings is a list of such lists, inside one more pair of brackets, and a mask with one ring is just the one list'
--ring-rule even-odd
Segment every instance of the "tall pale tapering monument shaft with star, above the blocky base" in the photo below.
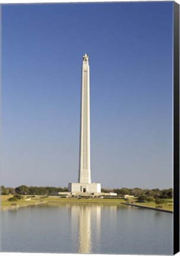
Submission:
{"label": "tall pale tapering monument shaft with star, above the blocky base", "polygon": [[83,56],[81,85],[81,131],[79,150],[79,183],[91,183],[90,169],[89,63]]}

